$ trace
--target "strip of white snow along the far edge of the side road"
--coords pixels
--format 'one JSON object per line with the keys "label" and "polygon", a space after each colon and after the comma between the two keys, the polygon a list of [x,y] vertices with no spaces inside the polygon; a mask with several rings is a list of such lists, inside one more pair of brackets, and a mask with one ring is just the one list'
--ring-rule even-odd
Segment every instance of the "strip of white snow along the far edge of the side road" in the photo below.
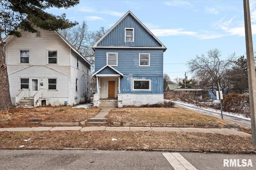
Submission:
{"label": "strip of white snow along the far edge of the side road", "polygon": [[[184,103],[184,102],[176,102],[176,101],[172,101],[172,100],[166,100],[166,101],[171,101],[171,102],[174,102],[175,104],[182,104],[182,105],[185,105],[185,106],[188,106],[188,107],[190,106],[189,109],[196,110],[196,108],[193,108],[193,107],[197,107],[197,108],[200,108],[200,109],[204,109],[206,111],[213,111],[213,112],[221,114],[220,109],[216,110],[216,109],[212,109],[212,108],[199,107],[199,106],[196,106],[194,104],[188,104],[188,103]],[[223,115],[230,115],[230,116],[233,116],[233,117],[238,117],[238,118],[245,119],[245,120],[251,120],[250,117],[245,117],[245,116],[239,115],[237,113],[231,113],[231,112],[222,111],[222,114]]]}

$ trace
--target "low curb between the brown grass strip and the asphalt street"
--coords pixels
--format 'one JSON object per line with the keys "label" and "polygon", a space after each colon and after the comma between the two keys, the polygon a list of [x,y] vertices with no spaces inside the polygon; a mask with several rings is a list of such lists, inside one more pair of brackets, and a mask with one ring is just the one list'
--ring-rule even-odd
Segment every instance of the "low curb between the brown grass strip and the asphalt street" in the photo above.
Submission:
{"label": "low curb between the brown grass strip and the asphalt street", "polygon": [[[256,154],[256,150],[218,150],[218,149],[138,149],[138,148],[120,148],[120,149],[97,149],[97,148],[4,148],[12,150],[122,150],[122,151],[146,151],[146,152],[193,152],[193,153],[222,153],[222,154]],[[0,150],[4,150],[1,148]]]}

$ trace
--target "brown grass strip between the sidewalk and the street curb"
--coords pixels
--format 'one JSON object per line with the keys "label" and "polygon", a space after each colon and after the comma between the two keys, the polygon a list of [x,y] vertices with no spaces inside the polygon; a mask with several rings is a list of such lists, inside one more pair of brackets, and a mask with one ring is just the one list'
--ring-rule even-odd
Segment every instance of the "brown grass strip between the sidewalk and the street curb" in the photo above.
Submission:
{"label": "brown grass strip between the sidewalk and the street curb", "polygon": [[[117,139],[112,141],[112,139]],[[25,142],[24,139],[30,139]],[[256,150],[252,137],[216,133],[142,131],[30,131],[1,132],[0,149],[95,148],[95,149],[191,149]]]}

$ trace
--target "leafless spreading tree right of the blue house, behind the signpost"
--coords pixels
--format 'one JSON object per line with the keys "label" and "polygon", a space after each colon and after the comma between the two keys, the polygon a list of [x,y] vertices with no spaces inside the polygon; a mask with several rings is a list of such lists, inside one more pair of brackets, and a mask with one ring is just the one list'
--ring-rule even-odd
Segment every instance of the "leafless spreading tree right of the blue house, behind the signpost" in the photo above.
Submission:
{"label": "leafless spreading tree right of the blue house, behind the signpost", "polygon": [[217,89],[218,82],[222,90],[228,89],[230,81],[227,72],[234,64],[236,54],[232,53],[226,60],[220,59],[221,51],[218,49],[210,49],[207,54],[207,57],[196,55],[195,59],[188,61],[189,71],[200,79],[199,84],[206,89]]}

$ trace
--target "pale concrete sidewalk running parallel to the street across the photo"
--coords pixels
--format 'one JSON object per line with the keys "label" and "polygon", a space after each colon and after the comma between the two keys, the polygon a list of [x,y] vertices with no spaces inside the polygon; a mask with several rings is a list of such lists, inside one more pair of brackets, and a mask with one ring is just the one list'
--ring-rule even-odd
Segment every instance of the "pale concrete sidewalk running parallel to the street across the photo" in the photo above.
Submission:
{"label": "pale concrete sidewalk running parallel to the street across the photo", "polygon": [[89,126],[89,127],[8,127],[0,128],[0,131],[155,131],[155,132],[202,132],[220,133],[223,135],[246,135],[248,133],[238,131],[236,128],[193,128],[193,127],[108,127],[108,126]]}

